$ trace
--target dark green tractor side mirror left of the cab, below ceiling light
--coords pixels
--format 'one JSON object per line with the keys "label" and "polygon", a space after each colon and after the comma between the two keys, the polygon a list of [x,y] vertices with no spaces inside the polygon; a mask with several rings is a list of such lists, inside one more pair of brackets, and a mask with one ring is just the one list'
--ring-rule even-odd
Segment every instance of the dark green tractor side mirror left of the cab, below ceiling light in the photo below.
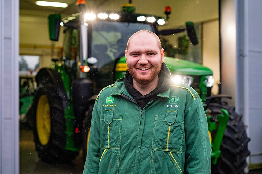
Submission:
{"label": "dark green tractor side mirror left of the cab, below ceiling light", "polygon": [[48,16],[49,38],[51,41],[58,41],[61,14],[50,14]]}

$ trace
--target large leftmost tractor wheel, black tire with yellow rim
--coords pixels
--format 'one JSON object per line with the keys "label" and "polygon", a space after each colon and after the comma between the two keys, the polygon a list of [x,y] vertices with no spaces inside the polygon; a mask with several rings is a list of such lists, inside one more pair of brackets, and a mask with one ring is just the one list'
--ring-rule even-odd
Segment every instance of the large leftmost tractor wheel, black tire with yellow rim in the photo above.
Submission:
{"label": "large leftmost tractor wheel, black tire with yellow rim", "polygon": [[40,84],[33,102],[34,140],[39,157],[45,162],[66,162],[77,153],[67,151],[63,99],[54,85]]}

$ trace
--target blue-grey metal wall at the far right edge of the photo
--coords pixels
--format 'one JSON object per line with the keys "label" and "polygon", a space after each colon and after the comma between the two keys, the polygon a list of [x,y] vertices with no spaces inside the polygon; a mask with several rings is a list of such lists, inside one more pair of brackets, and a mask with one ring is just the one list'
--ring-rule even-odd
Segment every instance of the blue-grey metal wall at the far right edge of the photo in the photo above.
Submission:
{"label": "blue-grey metal wall at the far right edge of the photo", "polygon": [[250,167],[262,166],[262,2],[236,3],[237,16],[237,109],[248,125]]}

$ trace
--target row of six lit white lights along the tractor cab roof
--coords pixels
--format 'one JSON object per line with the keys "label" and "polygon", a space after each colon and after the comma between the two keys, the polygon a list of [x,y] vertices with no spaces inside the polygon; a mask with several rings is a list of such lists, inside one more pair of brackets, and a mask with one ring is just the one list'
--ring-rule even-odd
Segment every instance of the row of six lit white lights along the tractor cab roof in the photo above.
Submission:
{"label": "row of six lit white lights along the tractor cab roof", "polygon": [[[84,17],[85,17],[86,20],[94,20],[94,19],[96,19],[96,15],[93,14],[93,13],[87,13],[87,14],[84,15]],[[99,13],[99,14],[97,14],[97,17],[99,19],[107,19],[108,18],[108,14],[106,14],[106,13]],[[118,14],[116,14],[116,13],[109,14],[109,18],[112,19],[112,20],[117,20],[117,19],[119,19],[119,17],[120,16]],[[147,21],[149,23],[153,23],[153,22],[156,21],[156,18],[155,17],[138,16],[137,17],[137,21],[139,21],[139,22]],[[157,23],[159,25],[164,25],[165,24],[165,20],[164,19],[158,19]]]}

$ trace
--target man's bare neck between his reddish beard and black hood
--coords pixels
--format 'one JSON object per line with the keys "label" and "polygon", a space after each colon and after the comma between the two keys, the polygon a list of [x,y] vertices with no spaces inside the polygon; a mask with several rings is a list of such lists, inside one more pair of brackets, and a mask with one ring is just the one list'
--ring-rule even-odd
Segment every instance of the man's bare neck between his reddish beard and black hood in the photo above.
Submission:
{"label": "man's bare neck between his reddish beard and black hood", "polygon": [[137,83],[134,78],[133,78],[133,87],[140,92],[142,95],[147,95],[149,94],[151,91],[153,91],[154,89],[156,89],[158,87],[158,76],[156,79],[154,79],[154,81],[146,83],[146,84],[141,84],[141,83]]}

